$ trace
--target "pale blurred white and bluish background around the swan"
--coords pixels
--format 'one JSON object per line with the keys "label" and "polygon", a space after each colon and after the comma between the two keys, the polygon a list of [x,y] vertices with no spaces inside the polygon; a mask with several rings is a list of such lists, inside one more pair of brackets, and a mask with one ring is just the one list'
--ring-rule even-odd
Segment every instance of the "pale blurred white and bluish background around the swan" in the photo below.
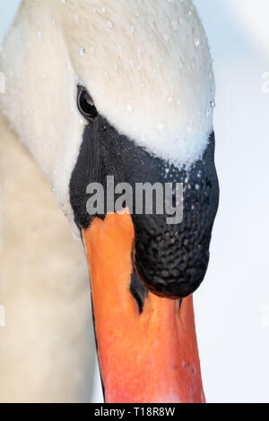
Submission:
{"label": "pale blurred white and bluish background around the swan", "polygon": [[[1,0],[0,42],[19,3]],[[211,262],[195,293],[204,391],[208,402],[269,402],[269,2],[195,4],[214,59],[221,184]],[[91,400],[102,401],[98,374]]]}

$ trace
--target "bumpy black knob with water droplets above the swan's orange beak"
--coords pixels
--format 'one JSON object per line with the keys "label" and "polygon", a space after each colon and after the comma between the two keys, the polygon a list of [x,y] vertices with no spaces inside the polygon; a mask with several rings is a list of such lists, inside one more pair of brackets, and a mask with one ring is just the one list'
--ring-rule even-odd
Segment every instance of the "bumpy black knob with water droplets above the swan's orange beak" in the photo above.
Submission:
{"label": "bumpy black knob with water droplets above the swan's orange beak", "polygon": [[134,215],[135,266],[144,285],[158,296],[182,298],[195,292],[209,262],[213,221],[219,203],[214,166],[214,136],[203,159],[189,171],[171,168],[165,181],[183,183],[183,218]]}

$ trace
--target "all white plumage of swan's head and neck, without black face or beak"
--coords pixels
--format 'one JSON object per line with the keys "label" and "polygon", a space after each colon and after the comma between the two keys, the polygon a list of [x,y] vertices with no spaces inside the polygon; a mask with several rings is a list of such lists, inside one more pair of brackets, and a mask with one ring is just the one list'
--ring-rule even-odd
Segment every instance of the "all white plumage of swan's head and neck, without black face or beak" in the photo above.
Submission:
{"label": "all white plumage of swan's head and neck, without black face or beak", "polygon": [[[212,60],[191,0],[24,0],[4,40],[0,71],[6,80],[0,109],[48,179],[74,233],[69,182],[86,125],[76,106],[78,84],[120,133],[178,166],[201,157],[213,130]],[[1,331],[0,399],[80,400],[83,367],[91,359],[82,250],[66,235],[38,168],[4,125],[1,148],[1,301],[12,322]],[[24,190],[22,206],[16,196]],[[42,312],[49,303],[48,316]],[[42,339],[47,346],[40,346]]]}

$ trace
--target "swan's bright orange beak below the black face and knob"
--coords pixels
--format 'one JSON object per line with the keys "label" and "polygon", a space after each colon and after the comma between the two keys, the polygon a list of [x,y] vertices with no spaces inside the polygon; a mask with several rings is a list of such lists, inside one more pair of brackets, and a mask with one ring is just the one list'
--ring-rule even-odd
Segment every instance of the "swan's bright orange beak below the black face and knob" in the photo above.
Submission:
{"label": "swan's bright orange beak below the black face and knob", "polygon": [[106,402],[204,402],[192,296],[180,306],[149,292],[140,314],[130,290],[129,213],[95,219],[82,235]]}

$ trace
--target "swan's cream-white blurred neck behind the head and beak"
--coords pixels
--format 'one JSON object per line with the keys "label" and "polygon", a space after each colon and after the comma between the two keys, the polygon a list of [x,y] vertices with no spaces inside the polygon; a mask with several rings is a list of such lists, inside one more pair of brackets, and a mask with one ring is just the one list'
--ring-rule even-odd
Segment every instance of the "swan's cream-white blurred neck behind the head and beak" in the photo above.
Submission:
{"label": "swan's cream-white blurred neck behind the head and beak", "polygon": [[50,187],[0,118],[0,402],[91,400],[87,263]]}

